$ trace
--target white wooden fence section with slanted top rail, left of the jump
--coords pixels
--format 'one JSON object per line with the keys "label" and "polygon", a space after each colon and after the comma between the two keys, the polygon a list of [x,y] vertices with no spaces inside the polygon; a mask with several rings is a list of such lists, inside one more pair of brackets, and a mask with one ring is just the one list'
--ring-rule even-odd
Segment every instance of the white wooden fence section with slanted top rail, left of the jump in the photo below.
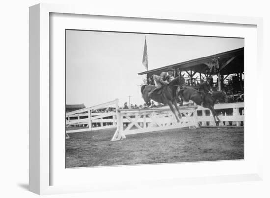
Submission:
{"label": "white wooden fence section with slanted top rail, left of the jump", "polygon": [[[113,101],[95,105],[92,107],[86,107],[80,110],[75,110],[66,113],[66,126],[86,126],[86,128],[66,130],[66,133],[76,133],[84,131],[93,131],[99,129],[108,129],[116,127],[116,112],[98,112],[92,113],[93,110],[97,110],[102,107],[108,107],[115,105],[118,109],[118,99]],[[84,118],[81,118],[84,117]],[[76,119],[74,119],[76,118]],[[107,126],[104,126],[107,125]]]}

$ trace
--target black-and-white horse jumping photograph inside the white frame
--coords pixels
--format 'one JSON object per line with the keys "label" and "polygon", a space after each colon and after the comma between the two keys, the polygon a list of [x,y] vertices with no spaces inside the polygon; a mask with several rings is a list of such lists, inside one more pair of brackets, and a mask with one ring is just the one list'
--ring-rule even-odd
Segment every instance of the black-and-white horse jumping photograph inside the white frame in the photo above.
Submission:
{"label": "black-and-white horse jumping photograph inside the white frame", "polygon": [[244,39],[65,30],[66,168],[244,159]]}

